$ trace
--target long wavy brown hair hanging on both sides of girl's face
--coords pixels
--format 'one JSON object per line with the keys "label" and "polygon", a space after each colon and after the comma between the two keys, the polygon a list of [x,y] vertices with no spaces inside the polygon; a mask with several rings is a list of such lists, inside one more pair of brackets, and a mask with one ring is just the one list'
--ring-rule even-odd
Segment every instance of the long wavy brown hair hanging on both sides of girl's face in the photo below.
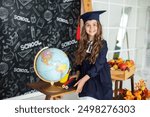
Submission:
{"label": "long wavy brown hair hanging on both sides of girl's face", "polygon": [[[93,48],[90,57],[88,60],[90,61],[91,64],[94,64],[96,61],[96,58],[99,54],[100,49],[102,48],[102,25],[99,21],[97,21],[97,33],[94,36],[93,40]],[[86,50],[87,50],[87,43],[88,43],[88,34],[86,33],[85,30],[85,24],[82,27],[81,31],[81,39],[79,41],[78,49],[75,52],[75,64],[76,65],[81,65],[82,61],[86,57]]]}

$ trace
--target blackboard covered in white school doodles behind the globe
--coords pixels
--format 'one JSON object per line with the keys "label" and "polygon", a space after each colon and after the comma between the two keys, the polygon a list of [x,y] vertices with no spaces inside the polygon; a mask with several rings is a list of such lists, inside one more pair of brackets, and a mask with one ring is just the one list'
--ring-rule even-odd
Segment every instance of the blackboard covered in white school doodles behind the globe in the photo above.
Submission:
{"label": "blackboard covered in white school doodles behind the globe", "polygon": [[80,0],[0,1],[0,99],[23,95],[36,82],[36,53],[56,47],[73,61]]}

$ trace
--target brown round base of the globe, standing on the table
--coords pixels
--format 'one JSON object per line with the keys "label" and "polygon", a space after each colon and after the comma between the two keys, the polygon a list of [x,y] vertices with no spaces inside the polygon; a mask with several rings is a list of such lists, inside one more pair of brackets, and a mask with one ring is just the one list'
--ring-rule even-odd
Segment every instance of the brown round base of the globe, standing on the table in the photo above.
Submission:
{"label": "brown round base of the globe, standing on the table", "polygon": [[59,86],[55,86],[54,82],[50,82],[51,86],[46,87],[45,91],[47,92],[51,92],[51,93],[57,93],[57,92],[61,92],[63,89]]}

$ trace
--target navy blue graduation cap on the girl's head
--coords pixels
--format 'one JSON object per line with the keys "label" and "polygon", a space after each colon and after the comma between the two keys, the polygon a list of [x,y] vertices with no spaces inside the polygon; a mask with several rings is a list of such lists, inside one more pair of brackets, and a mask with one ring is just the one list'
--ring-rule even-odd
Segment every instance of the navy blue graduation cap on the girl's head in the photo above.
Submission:
{"label": "navy blue graduation cap on the girl's head", "polygon": [[87,20],[97,20],[97,21],[99,21],[99,15],[104,13],[104,12],[106,12],[106,10],[86,12],[83,15],[80,16],[80,19],[83,19],[84,23]]}

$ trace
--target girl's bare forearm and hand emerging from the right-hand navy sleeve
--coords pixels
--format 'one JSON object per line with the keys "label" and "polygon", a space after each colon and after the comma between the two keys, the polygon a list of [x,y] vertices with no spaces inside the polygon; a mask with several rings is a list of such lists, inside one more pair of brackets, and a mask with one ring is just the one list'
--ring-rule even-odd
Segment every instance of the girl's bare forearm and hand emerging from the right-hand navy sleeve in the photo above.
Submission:
{"label": "girl's bare forearm and hand emerging from the right-hand navy sleeve", "polygon": [[90,79],[90,77],[88,75],[85,75],[82,79],[80,79],[75,85],[77,86],[77,89],[76,89],[76,93],[81,93],[82,92],[82,89],[83,89],[83,86],[84,84]]}

